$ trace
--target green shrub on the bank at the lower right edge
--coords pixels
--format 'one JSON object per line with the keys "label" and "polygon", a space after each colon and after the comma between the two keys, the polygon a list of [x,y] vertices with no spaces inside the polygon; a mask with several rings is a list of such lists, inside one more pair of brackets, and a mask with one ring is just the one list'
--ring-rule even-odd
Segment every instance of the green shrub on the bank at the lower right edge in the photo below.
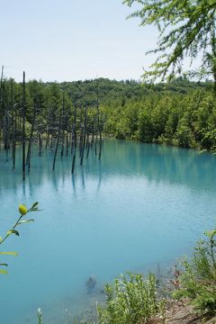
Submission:
{"label": "green shrub on the bank at the lower right edge", "polygon": [[207,239],[198,242],[193,258],[184,259],[174,296],[189,299],[198,312],[216,315],[216,229],[205,235]]}

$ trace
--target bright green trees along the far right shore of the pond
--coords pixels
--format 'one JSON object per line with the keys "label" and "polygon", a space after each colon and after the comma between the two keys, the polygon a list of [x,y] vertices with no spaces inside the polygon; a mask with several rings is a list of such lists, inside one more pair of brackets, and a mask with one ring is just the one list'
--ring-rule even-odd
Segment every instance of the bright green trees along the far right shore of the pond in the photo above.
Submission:
{"label": "bright green trees along the far right shore of the pond", "polygon": [[183,148],[216,148],[216,103],[211,92],[148,94],[123,107],[103,107],[104,132],[117,138]]}

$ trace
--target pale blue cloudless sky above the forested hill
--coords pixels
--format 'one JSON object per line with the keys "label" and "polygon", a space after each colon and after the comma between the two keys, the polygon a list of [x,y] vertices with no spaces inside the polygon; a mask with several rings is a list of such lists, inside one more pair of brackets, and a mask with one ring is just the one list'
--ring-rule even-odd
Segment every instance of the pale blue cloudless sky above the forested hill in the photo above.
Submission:
{"label": "pale blue cloudless sky above the forested hill", "polygon": [[4,76],[64,81],[103,76],[139,79],[153,61],[157,30],[126,20],[121,0],[1,2],[0,65]]}

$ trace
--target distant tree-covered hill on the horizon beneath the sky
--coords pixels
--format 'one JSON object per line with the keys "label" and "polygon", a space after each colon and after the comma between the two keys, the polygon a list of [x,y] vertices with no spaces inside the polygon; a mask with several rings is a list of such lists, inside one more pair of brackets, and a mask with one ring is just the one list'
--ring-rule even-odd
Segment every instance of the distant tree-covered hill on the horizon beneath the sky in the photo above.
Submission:
{"label": "distant tree-covered hill on the horizon beneath the sky", "polygon": [[[48,83],[47,85],[51,85]],[[96,94],[99,94],[100,103],[113,103],[132,100],[140,100],[147,94],[187,94],[191,90],[210,88],[211,81],[191,82],[184,77],[178,77],[171,83],[159,83],[156,85],[141,84],[135,80],[116,81],[108,78],[94,80],[63,82],[58,84],[62,90],[72,98],[73,103],[82,103],[86,106],[96,104]]]}

